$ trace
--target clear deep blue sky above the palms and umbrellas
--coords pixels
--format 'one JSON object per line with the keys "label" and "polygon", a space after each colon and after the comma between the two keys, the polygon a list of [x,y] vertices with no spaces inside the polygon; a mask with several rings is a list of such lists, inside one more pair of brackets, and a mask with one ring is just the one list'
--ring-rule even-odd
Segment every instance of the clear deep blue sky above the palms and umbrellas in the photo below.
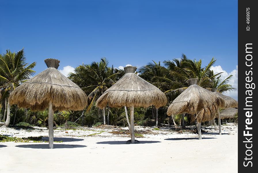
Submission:
{"label": "clear deep blue sky above the palms and umbrellas", "polygon": [[24,47],[28,62],[37,62],[37,73],[46,69],[46,58],[59,59],[63,69],[101,57],[114,67],[140,67],[182,53],[205,66],[214,57],[215,71],[235,73],[237,87],[237,3],[1,0],[0,52]]}

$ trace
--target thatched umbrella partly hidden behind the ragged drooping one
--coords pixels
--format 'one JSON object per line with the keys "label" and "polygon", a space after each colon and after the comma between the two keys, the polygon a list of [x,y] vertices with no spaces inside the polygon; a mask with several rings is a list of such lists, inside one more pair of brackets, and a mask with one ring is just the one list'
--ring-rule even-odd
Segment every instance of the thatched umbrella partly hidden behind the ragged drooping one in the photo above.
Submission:
{"label": "thatched umbrella partly hidden behind the ragged drooping one", "polygon": [[219,134],[221,135],[221,122],[220,122],[221,117],[220,117],[220,114],[219,114],[219,108],[226,109],[226,108],[230,108],[230,107],[238,107],[238,102],[235,99],[233,99],[232,97],[229,97],[229,96],[226,96],[224,94],[221,94],[221,93],[217,92],[217,88],[212,88],[211,91],[214,92],[218,97],[220,97],[221,99],[223,99],[225,101],[224,105],[220,105],[217,108],[218,123],[219,123]]}

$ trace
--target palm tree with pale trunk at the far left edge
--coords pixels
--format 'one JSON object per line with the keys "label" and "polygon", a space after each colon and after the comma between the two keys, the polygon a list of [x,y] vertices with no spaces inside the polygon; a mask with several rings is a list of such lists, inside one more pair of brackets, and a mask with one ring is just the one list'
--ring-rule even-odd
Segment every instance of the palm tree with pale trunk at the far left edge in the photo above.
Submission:
{"label": "palm tree with pale trunk at the far left edge", "polygon": [[0,89],[2,90],[2,99],[7,100],[7,118],[2,125],[9,126],[10,124],[10,93],[22,82],[25,82],[35,73],[33,67],[36,62],[28,65],[24,55],[24,49],[18,52],[6,50],[6,53],[0,55]]}

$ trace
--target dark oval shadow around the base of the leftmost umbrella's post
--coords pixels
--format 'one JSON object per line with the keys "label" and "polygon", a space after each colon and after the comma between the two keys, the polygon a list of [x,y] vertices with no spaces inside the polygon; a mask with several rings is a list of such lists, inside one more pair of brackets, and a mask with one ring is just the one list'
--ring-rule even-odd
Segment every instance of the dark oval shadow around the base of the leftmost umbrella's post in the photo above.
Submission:
{"label": "dark oval shadow around the base of the leftmost umbrella's post", "polygon": [[[49,144],[28,144],[28,145],[16,145],[16,147],[21,148],[36,148],[36,149],[48,149]],[[54,148],[81,148],[86,147],[86,145],[68,145],[68,144],[54,144]]]}

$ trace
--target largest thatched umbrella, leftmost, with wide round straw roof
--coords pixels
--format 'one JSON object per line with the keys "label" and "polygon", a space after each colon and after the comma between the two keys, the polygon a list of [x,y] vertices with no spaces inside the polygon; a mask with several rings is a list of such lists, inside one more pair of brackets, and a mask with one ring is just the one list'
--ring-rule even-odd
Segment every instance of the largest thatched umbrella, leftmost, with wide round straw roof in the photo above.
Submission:
{"label": "largest thatched umbrella, leftmost, with wide round straw roof", "polygon": [[53,148],[53,116],[55,110],[83,110],[87,95],[59,70],[59,60],[45,59],[43,72],[18,86],[10,94],[10,104],[31,110],[48,108],[49,148]]}

